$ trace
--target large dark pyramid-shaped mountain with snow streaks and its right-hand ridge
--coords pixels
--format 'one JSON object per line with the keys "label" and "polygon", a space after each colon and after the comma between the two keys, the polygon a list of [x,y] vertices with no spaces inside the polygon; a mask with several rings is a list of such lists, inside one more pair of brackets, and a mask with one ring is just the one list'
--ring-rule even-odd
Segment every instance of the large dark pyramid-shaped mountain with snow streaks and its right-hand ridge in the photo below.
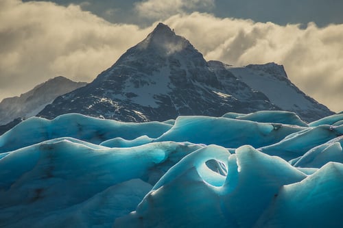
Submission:
{"label": "large dark pyramid-shaped mountain with snow streaks and its right-hand ridge", "polygon": [[[287,94],[276,99],[268,93],[268,84],[259,88],[251,77],[257,79],[257,84],[268,79],[276,90]],[[306,100],[304,107],[299,97]],[[226,112],[258,110],[291,110],[305,121],[333,113],[300,92],[287,79],[283,66],[233,68],[222,62],[206,62],[188,40],[159,23],[145,40],[128,49],[91,84],[58,97],[38,116],[51,119],[78,112],[145,122],[165,121],[179,115],[222,116]]]}

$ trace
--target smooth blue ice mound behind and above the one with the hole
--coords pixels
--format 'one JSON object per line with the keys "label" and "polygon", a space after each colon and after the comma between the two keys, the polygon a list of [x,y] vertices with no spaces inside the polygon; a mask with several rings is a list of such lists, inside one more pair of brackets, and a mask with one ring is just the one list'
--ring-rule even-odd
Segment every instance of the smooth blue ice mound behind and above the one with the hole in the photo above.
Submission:
{"label": "smooth blue ice mound behind and above the one with the hole", "polygon": [[296,125],[258,123],[224,117],[179,116],[173,127],[156,141],[188,141],[231,148],[244,144],[263,147],[303,129],[305,127]]}

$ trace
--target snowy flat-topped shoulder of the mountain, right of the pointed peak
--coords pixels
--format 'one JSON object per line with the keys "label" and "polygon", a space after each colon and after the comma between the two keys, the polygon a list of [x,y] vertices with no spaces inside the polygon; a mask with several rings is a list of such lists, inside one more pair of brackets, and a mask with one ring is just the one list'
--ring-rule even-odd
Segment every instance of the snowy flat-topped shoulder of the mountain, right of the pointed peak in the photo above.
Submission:
{"label": "snowy flat-topped shoulder of the mountain, right of the pointed peak", "polygon": [[307,121],[322,118],[321,112],[330,114],[327,107],[308,97],[289,81],[283,66],[268,63],[245,67],[226,65],[226,68],[252,89],[263,92],[282,110],[296,112]]}

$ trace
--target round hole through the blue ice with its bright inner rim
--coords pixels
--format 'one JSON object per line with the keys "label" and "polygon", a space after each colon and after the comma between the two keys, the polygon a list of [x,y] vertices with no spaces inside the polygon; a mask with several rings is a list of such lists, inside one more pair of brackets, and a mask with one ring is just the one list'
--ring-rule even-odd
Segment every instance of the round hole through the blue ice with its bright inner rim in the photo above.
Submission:
{"label": "round hole through the blue ice with its bright inner rim", "polygon": [[198,173],[204,182],[211,186],[221,187],[225,183],[228,169],[224,162],[211,159],[198,167]]}

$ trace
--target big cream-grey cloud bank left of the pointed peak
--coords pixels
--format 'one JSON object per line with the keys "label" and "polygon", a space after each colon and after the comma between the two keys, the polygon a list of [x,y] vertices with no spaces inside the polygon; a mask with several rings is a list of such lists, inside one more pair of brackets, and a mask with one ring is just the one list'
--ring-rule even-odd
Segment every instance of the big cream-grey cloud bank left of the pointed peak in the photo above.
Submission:
{"label": "big cream-grey cloud bank left of the pointed peak", "polygon": [[151,29],[36,1],[0,1],[0,21],[0,99],[58,75],[91,81]]}

